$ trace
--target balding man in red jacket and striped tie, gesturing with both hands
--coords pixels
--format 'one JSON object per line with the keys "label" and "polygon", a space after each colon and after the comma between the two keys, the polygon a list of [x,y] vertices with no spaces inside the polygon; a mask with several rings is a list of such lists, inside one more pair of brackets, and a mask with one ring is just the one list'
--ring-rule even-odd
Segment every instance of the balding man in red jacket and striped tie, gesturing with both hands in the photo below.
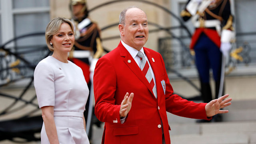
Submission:
{"label": "balding man in red jacket and striped tie, gesturing with both hands", "polygon": [[121,42],[100,58],[94,71],[95,115],[105,122],[102,144],[170,144],[166,111],[210,120],[229,106],[228,94],[194,103],[173,94],[162,56],[143,47],[148,40],[144,11],[120,14]]}

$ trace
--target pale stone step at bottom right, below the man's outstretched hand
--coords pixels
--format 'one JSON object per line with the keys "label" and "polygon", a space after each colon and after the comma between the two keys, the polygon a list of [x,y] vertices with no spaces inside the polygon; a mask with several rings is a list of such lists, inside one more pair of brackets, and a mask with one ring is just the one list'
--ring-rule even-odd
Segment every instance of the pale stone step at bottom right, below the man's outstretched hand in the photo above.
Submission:
{"label": "pale stone step at bottom right, below the man's outstretched hand", "polygon": [[256,121],[172,124],[173,144],[256,144]]}

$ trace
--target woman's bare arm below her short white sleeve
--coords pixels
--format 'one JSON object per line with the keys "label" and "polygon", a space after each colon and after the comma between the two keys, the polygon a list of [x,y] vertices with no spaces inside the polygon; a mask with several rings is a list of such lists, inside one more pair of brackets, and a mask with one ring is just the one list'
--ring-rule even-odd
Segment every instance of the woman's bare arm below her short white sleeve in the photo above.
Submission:
{"label": "woman's bare arm below her short white sleeve", "polygon": [[44,106],[41,108],[42,118],[44,120],[45,131],[50,144],[59,144],[56,125],[54,122],[53,106]]}

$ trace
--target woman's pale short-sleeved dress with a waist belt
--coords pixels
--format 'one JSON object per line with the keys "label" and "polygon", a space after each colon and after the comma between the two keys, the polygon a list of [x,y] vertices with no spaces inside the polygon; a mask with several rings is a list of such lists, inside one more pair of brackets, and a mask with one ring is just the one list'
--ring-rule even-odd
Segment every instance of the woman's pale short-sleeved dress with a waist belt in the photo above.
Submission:
{"label": "woman's pale short-sleeved dress with a waist belt", "polygon": [[[54,121],[60,144],[90,144],[83,114],[89,89],[82,69],[52,56],[41,60],[34,71],[34,86],[40,108],[54,106]],[[44,123],[41,143],[50,144]]]}

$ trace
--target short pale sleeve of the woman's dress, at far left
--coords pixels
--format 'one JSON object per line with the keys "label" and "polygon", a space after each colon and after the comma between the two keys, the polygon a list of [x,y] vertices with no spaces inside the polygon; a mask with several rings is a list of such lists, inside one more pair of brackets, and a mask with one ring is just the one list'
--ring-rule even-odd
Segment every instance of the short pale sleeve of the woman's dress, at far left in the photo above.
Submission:
{"label": "short pale sleeve of the woman's dress, at far left", "polygon": [[39,62],[34,71],[34,86],[39,108],[54,106],[54,71],[46,62]]}

